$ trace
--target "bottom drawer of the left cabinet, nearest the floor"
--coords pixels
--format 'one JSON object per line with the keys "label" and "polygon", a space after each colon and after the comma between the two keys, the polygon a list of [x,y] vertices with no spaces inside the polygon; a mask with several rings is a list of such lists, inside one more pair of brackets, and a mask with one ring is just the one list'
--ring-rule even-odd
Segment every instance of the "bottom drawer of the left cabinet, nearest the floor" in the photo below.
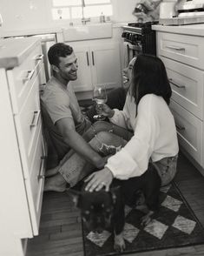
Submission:
{"label": "bottom drawer of the left cabinet, nearest the floor", "polygon": [[30,178],[26,180],[27,191],[30,193],[30,216],[34,235],[38,234],[41,207],[43,201],[45,152],[42,131],[38,132],[36,147],[33,154]]}

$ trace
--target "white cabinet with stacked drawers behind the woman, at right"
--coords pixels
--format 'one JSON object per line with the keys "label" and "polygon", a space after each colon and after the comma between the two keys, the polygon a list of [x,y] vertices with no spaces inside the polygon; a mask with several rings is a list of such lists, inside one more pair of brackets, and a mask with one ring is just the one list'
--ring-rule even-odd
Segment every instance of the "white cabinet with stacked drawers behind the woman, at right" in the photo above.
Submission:
{"label": "white cabinet with stacked drawers behind the woman, at right", "polygon": [[[166,66],[172,87],[170,108],[174,114],[181,151],[204,168],[204,37],[189,25],[176,28],[158,26],[157,55]],[[197,28],[198,29],[198,28]],[[181,32],[180,32],[181,31]],[[195,32],[196,31],[196,32]],[[195,35],[197,33],[197,35]]]}

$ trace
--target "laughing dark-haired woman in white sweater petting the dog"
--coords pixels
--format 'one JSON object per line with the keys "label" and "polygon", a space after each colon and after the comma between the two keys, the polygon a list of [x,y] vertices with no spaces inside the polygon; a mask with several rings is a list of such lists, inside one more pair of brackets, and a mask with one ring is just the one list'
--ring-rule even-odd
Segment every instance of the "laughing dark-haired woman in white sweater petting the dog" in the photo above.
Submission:
{"label": "laughing dark-haired woman in white sweater petting the dog", "polygon": [[108,191],[114,178],[140,177],[148,170],[149,162],[159,173],[161,185],[174,179],[179,147],[174,117],[168,108],[171,94],[161,59],[138,56],[123,111],[111,110],[104,104],[102,112],[114,125],[132,130],[134,136],[108,159],[101,171],[86,179],[87,191],[99,191],[102,186]]}

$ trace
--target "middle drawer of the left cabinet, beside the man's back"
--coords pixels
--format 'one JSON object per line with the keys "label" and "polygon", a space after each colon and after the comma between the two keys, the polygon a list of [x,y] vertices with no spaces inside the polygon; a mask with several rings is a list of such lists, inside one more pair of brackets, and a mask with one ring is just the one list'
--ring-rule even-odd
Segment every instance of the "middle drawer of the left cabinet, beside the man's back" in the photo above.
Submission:
{"label": "middle drawer of the left cabinet, beside the man's back", "polygon": [[[36,134],[41,125],[38,77],[32,85],[22,110],[15,116],[15,121],[23,164],[26,165],[26,170],[30,172],[32,155],[36,145]],[[24,175],[27,177],[29,174],[24,173]]]}

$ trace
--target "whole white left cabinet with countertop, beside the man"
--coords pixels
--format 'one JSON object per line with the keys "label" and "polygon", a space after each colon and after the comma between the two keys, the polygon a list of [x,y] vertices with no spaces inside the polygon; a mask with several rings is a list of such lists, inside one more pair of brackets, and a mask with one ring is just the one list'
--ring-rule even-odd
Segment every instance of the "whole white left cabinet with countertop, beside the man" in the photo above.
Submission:
{"label": "whole white left cabinet with countertop, beside the man", "polygon": [[40,41],[4,39],[0,77],[0,255],[22,256],[23,241],[38,234],[43,200],[46,147],[39,86],[45,73]]}

